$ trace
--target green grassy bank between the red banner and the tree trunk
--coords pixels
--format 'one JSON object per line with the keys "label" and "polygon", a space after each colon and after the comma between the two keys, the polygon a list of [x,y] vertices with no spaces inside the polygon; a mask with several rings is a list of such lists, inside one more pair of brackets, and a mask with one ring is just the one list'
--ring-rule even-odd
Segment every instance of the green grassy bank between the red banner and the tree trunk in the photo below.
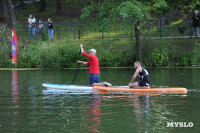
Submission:
{"label": "green grassy bank between the red banner and the tree trunk", "polygon": [[[131,42],[131,40],[129,40]],[[75,67],[80,52],[80,43],[85,44],[85,50],[95,48],[100,60],[100,66],[129,66],[135,60],[134,47],[123,44],[123,40],[57,40],[38,41],[21,47],[18,52],[19,67],[31,68],[69,68]],[[110,44],[109,44],[110,43]],[[81,56],[81,60],[87,60]]]}

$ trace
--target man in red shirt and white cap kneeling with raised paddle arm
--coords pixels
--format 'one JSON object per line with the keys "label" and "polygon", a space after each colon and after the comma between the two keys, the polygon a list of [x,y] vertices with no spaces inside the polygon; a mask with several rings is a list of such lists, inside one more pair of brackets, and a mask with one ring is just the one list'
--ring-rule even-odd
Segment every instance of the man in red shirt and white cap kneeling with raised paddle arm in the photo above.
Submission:
{"label": "man in red shirt and white cap kneeling with raised paddle arm", "polygon": [[89,65],[90,66],[90,76],[89,76],[89,85],[90,86],[103,86],[105,83],[100,83],[100,70],[99,70],[99,59],[97,58],[96,50],[95,49],[90,49],[89,54],[86,54],[85,51],[83,50],[83,44],[80,45],[81,47],[81,53],[83,56],[89,58],[89,62],[84,62],[84,61],[78,61],[78,63],[82,63],[84,65]]}

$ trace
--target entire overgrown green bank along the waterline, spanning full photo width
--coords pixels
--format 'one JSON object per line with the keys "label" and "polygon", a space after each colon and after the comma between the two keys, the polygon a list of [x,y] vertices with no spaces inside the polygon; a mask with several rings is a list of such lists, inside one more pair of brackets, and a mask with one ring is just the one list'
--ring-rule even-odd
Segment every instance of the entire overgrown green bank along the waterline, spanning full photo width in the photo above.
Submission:
{"label": "entire overgrown green bank along the waterline, spanning full photo width", "polygon": [[[13,68],[11,63],[10,29],[1,26],[0,67]],[[80,52],[97,50],[101,67],[129,67],[136,60],[134,39],[83,39],[59,38],[32,40],[18,34],[18,68],[72,68]],[[177,67],[200,65],[199,39],[141,39],[142,60],[146,67]],[[81,56],[81,60],[88,60]],[[84,66],[82,66],[84,67]]]}

